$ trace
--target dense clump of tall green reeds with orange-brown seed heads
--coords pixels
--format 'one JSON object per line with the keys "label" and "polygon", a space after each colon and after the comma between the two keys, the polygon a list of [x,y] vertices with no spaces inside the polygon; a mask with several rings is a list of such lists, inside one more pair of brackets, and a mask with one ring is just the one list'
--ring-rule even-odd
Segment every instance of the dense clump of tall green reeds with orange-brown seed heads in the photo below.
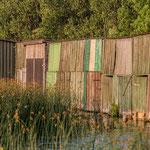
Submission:
{"label": "dense clump of tall green reeds with orange-brown seed heads", "polygon": [[56,88],[43,91],[38,85],[22,88],[14,80],[1,80],[2,146],[14,149],[35,147],[37,142],[67,140],[79,136],[88,126],[86,115],[71,105],[69,94]]}

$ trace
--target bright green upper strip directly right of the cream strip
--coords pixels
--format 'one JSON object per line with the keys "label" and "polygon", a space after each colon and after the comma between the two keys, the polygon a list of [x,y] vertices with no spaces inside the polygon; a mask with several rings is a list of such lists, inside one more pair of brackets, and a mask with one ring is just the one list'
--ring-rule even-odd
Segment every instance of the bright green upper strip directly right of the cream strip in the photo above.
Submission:
{"label": "bright green upper strip directly right of the cream strip", "polygon": [[94,71],[101,71],[101,51],[102,51],[102,40],[96,40],[95,46],[95,65]]}

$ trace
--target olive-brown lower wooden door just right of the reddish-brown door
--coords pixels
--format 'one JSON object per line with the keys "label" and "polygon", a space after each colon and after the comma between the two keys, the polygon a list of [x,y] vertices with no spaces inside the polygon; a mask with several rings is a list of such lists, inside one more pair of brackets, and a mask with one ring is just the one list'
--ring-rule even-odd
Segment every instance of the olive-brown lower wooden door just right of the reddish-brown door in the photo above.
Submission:
{"label": "olive-brown lower wooden door just right of the reddish-brown door", "polygon": [[102,111],[110,112],[113,104],[113,76],[102,75]]}

